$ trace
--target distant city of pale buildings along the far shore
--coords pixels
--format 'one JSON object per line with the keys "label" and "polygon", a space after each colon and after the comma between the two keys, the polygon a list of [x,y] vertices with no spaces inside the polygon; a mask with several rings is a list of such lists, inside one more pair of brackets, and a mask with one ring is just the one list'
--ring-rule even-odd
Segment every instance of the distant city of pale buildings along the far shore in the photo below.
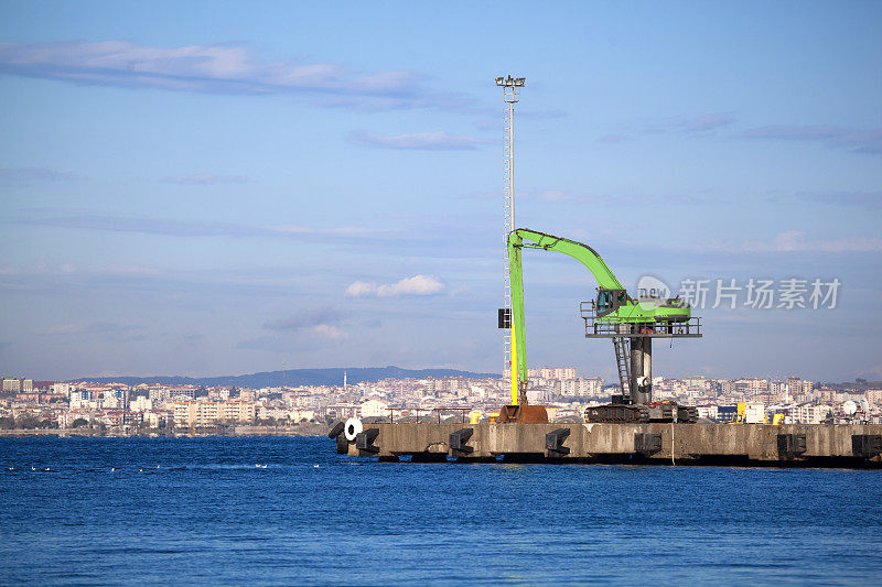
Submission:
{"label": "distant city of pale buildings along the far shore", "polygon": [[[337,370],[338,371],[338,370]],[[459,373],[459,374],[458,374]],[[327,372],[301,373],[292,384],[279,384],[272,373],[230,380],[117,380],[47,382],[3,379],[0,435],[4,430],[92,430],[111,434],[158,434],[214,428],[220,425],[300,426],[349,417],[450,416],[490,418],[509,393],[497,377],[397,368],[362,371],[357,383],[330,381]],[[363,376],[369,376],[369,379]],[[572,367],[530,370],[527,396],[558,418],[588,417],[585,410],[609,402],[621,383],[579,377]],[[774,381],[702,376],[653,378],[653,399],[695,409],[695,417],[745,423],[820,424],[882,422],[882,385],[867,382],[824,384],[799,377]],[[858,411],[858,406],[861,406]],[[860,412],[860,413],[858,413]],[[444,414],[447,413],[447,416]],[[455,415],[452,416],[454,420]],[[255,431],[251,431],[254,433]],[[266,432],[266,431],[265,431]],[[302,432],[302,431],[301,431]],[[316,431],[311,430],[314,434]],[[12,433],[17,434],[17,433]],[[319,431],[324,435],[324,431]]]}

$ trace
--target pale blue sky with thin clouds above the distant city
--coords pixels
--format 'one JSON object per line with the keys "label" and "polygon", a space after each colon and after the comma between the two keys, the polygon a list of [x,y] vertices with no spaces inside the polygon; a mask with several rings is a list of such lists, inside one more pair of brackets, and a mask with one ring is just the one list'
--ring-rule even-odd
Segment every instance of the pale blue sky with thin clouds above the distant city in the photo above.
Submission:
{"label": "pale blue sky with thin clouds above the distant city", "polygon": [[[655,373],[882,378],[879,2],[0,3],[0,372],[498,371],[517,224],[696,311]],[[525,256],[530,365],[612,379],[590,274]],[[665,347],[665,348],[663,348]]]}

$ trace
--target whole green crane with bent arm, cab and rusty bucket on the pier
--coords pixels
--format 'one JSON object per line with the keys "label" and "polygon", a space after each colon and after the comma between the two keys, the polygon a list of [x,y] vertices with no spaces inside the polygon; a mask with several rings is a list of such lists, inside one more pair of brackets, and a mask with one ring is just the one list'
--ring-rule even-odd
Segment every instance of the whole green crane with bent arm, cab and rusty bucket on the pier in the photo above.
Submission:
{"label": "whole green crane with bent arm, cab and rusty bucket on the pier", "polygon": [[[518,228],[508,233],[508,267],[512,283],[512,317],[514,352],[512,357],[512,378],[517,378],[518,399],[521,404],[527,403],[527,344],[526,324],[524,314],[524,279],[523,279],[523,249],[540,249],[555,251],[572,257],[582,263],[598,282],[598,297],[594,303],[595,314],[592,316],[594,324],[600,325],[605,336],[624,341],[624,337],[632,338],[637,345],[648,347],[648,336],[677,336],[675,325],[689,323],[691,312],[689,305],[675,298],[642,297],[632,298],[622,283],[613,274],[600,254],[581,242],[556,237],[545,232]],[[692,335],[690,335],[692,336]],[[622,343],[624,344],[624,343]],[[650,347],[648,347],[650,349]],[[648,350],[648,354],[652,351]],[[622,350],[627,361],[626,350]],[[627,368],[622,366],[620,348],[616,345],[616,357],[620,363],[623,392],[625,390],[624,372]],[[631,376],[628,374],[628,378]],[[646,379],[645,377],[643,378]],[[643,383],[642,383],[643,384]],[[648,400],[647,400],[648,401]],[[514,406],[510,406],[514,407]],[[505,410],[505,409],[504,409]],[[509,410],[509,412],[514,412]],[[514,413],[504,415],[501,421],[514,420]],[[518,420],[518,421],[523,421]]]}

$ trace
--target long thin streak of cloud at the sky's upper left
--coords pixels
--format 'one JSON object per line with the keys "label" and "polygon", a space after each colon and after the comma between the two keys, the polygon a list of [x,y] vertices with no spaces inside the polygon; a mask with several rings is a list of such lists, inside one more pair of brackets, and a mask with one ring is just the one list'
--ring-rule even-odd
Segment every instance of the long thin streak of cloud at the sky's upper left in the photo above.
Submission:
{"label": "long thin streak of cloud at the sky's upper left", "polygon": [[[0,73],[115,87],[302,95],[330,107],[439,107],[412,72],[354,72],[335,63],[271,62],[236,44],[158,47],[126,41],[0,43]],[[454,99],[455,98],[455,99]],[[447,107],[462,107],[453,96]]]}

